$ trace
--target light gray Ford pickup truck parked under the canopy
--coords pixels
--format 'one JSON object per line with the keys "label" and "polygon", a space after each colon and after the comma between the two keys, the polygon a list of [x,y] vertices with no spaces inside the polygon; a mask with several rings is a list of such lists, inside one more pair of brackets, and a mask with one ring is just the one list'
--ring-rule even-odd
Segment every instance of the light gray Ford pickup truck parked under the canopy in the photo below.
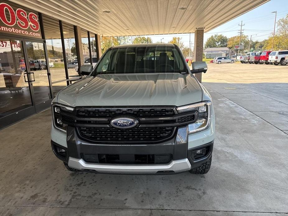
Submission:
{"label": "light gray Ford pickup truck parked under the canopy", "polygon": [[51,146],[69,171],[173,174],[209,171],[215,117],[207,90],[177,45],[109,48],[52,102]]}

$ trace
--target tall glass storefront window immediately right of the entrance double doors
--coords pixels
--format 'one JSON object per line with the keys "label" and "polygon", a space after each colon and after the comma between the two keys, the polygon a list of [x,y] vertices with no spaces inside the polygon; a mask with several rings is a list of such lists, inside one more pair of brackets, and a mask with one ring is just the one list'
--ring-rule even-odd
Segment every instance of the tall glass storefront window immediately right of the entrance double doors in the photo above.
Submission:
{"label": "tall glass storefront window immediately right of the entrance double doors", "polygon": [[[54,96],[67,86],[59,20],[43,15],[49,67]],[[62,82],[61,82],[62,80]]]}

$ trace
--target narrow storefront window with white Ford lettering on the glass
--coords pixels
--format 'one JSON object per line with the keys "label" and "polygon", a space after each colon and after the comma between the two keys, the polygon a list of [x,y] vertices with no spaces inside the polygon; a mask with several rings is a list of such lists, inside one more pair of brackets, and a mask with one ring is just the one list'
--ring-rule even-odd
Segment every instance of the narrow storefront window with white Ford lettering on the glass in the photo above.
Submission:
{"label": "narrow storefront window with white Ford lettering on the glass", "polygon": [[[78,77],[78,58],[76,52],[76,42],[74,35],[74,26],[65,22],[62,22],[64,46],[68,67],[69,78]],[[76,67],[76,68],[75,68]]]}

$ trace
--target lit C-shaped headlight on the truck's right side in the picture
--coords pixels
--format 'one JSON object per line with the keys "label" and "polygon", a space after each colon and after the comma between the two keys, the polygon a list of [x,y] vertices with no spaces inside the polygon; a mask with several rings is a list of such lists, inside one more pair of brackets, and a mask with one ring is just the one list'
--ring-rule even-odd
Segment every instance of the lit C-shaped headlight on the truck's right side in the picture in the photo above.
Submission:
{"label": "lit C-shaped headlight on the truck's right side in the picture", "polygon": [[203,101],[201,103],[189,104],[185,106],[179,106],[176,108],[178,113],[189,112],[193,110],[198,111],[198,119],[195,123],[188,124],[188,134],[196,133],[201,130],[205,130],[210,123],[210,101]]}

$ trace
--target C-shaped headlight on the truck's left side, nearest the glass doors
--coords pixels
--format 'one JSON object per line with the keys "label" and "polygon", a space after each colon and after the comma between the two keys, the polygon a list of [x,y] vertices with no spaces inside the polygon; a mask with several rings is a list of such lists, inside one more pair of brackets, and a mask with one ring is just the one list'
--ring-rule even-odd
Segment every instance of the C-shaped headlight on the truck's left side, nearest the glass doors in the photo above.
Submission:
{"label": "C-shaped headlight on the truck's left side, nearest the glass doors", "polygon": [[74,108],[71,106],[64,106],[57,103],[52,104],[52,121],[54,128],[60,130],[63,133],[67,132],[67,124],[64,124],[61,119],[61,112],[73,113]]}

